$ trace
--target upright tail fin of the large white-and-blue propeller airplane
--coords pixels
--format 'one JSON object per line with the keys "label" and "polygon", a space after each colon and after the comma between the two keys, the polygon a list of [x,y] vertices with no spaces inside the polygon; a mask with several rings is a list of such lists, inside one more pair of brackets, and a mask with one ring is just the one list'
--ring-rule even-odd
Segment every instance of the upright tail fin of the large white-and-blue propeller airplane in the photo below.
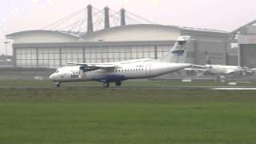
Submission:
{"label": "upright tail fin of the large white-and-blue propeller airplane", "polygon": [[190,36],[178,37],[174,47],[170,49],[170,52],[159,59],[160,62],[171,63],[184,63],[186,61],[186,54],[189,48]]}

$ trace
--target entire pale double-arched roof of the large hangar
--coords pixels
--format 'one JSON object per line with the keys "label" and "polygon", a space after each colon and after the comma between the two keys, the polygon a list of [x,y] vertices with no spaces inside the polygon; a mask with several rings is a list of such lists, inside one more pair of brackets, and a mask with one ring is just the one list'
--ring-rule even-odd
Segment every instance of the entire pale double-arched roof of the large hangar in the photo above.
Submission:
{"label": "entire pale double-arched roof of the large hangar", "polygon": [[[110,27],[90,34],[77,34],[51,30],[29,30],[6,35],[14,43],[59,43],[59,42],[142,42],[142,41],[175,41],[182,31],[187,29],[178,26],[162,25],[127,25]],[[191,29],[190,29],[191,30]],[[197,30],[203,33],[223,33],[213,30]]]}

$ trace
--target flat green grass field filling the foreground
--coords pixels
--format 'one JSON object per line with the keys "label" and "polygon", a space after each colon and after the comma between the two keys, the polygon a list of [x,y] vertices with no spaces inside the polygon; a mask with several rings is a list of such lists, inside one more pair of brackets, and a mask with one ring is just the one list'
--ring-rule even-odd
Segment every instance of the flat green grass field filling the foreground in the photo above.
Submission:
{"label": "flat green grass field filling the foreground", "polygon": [[256,142],[254,90],[0,90],[0,114],[3,144]]}

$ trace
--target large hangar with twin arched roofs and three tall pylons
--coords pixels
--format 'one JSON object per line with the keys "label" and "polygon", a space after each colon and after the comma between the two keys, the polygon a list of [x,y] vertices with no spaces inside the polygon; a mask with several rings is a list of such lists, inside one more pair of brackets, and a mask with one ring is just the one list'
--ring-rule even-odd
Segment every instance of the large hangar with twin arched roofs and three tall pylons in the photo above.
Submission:
{"label": "large hangar with twin arched roofs and three tall pylons", "polygon": [[[110,27],[105,8],[105,28],[93,30],[88,6],[86,33],[61,30],[29,30],[6,35],[14,40],[14,66],[54,69],[67,62],[118,62],[137,58],[162,58],[181,35],[190,35],[187,62],[206,64],[205,52],[213,64],[228,65],[230,33],[158,24],[126,24],[121,10],[121,25]],[[127,14],[128,15],[128,14]]]}

